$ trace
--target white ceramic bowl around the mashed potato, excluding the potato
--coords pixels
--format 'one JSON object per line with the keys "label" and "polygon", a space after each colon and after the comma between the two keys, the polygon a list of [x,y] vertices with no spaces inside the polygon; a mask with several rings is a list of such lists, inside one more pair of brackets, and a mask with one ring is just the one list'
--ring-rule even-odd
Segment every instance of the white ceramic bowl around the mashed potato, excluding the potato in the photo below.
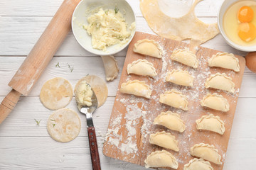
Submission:
{"label": "white ceramic bowl around the mashed potato, excluding the potato", "polygon": [[119,11],[123,14],[125,21],[128,23],[128,27],[131,26],[131,23],[135,22],[134,11],[125,0],[82,0],[75,8],[75,11],[73,13],[73,34],[75,35],[75,39],[83,48],[85,48],[85,50],[95,55],[113,55],[129,45],[129,42],[131,42],[132,38],[134,37],[136,28],[134,29],[134,31],[132,31],[132,35],[130,36],[129,41],[124,45],[112,45],[110,47],[107,47],[106,51],[92,48],[92,37],[87,34],[87,31],[82,28],[82,25],[88,24],[87,17],[93,14],[91,12],[95,8],[99,7],[102,7],[104,10],[118,8]]}

